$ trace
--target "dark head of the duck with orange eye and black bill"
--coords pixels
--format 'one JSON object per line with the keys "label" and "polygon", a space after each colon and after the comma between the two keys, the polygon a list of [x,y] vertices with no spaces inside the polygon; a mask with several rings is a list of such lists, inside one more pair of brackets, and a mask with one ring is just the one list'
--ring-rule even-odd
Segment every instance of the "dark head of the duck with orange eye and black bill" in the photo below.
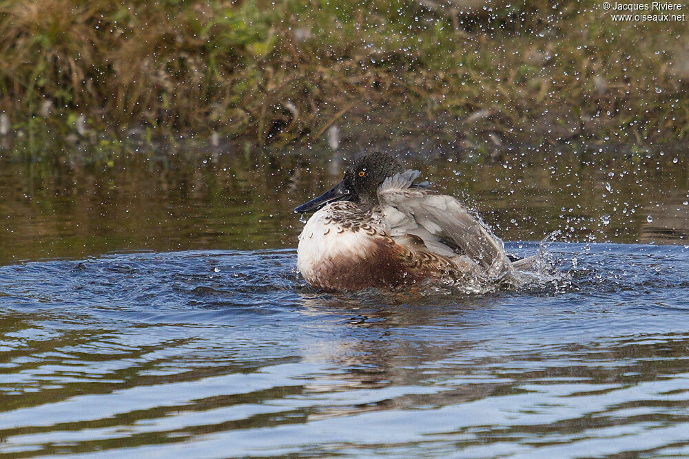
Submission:
{"label": "dark head of the duck with orange eye and black bill", "polygon": [[378,186],[388,177],[402,172],[400,164],[388,153],[369,153],[353,160],[342,182],[333,186],[318,198],[294,209],[295,213],[316,212],[329,202],[351,201],[363,209],[373,209],[378,204]]}

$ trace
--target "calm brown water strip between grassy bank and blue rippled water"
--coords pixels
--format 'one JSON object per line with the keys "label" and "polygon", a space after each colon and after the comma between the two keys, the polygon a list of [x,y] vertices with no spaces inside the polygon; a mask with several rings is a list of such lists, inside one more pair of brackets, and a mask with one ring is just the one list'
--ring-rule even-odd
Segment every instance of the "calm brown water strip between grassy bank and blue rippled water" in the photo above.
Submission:
{"label": "calm brown water strip between grassy bank and blue rippled water", "polygon": [[[302,225],[291,209],[339,173],[334,163],[304,158],[138,151],[91,164],[0,159],[0,264],[295,246]],[[404,163],[475,206],[504,239],[540,240],[558,229],[560,239],[579,242],[687,239],[683,157],[527,151],[499,162],[407,155]]]}

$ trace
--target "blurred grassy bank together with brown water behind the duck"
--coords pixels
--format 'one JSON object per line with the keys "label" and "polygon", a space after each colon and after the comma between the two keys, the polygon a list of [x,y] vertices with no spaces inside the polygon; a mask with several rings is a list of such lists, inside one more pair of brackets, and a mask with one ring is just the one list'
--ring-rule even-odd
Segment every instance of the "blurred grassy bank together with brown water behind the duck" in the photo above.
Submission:
{"label": "blurred grassy bank together with brown water behind the duck", "polygon": [[682,243],[688,23],[610,13],[4,1],[0,260],[294,246],[291,209],[374,149],[508,239]]}

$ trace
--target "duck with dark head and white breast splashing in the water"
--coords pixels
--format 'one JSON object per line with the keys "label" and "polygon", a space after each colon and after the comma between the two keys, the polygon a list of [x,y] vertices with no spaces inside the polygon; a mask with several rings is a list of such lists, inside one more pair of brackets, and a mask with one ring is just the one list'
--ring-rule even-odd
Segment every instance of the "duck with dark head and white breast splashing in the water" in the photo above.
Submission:
{"label": "duck with dark head and white breast splashing in the water", "polygon": [[350,162],[342,181],[294,209],[312,213],[300,236],[297,268],[329,292],[495,281],[511,275],[502,240],[450,195],[418,182],[376,151]]}

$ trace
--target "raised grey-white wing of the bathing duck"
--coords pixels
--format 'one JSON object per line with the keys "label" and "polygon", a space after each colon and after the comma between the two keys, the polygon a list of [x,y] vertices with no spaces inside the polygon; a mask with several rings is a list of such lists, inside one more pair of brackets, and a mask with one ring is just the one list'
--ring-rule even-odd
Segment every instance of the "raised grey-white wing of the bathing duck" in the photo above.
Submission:
{"label": "raised grey-white wing of the bathing duck", "polygon": [[462,253],[489,275],[511,269],[500,238],[479,217],[452,196],[414,186],[419,171],[404,171],[387,178],[378,188],[378,200],[391,237],[415,235],[434,253]]}

